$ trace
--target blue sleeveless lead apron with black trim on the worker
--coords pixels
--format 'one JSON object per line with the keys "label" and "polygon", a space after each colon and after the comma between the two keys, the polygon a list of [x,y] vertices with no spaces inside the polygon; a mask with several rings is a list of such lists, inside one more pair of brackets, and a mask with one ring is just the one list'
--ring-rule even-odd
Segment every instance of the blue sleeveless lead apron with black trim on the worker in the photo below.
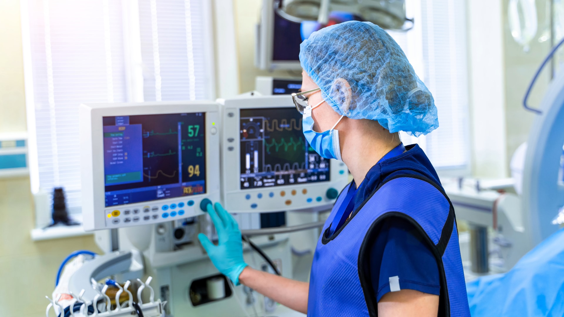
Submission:
{"label": "blue sleeveless lead apron with black trim on the worker", "polygon": [[315,249],[309,316],[378,315],[376,279],[368,276],[374,272],[367,266],[379,226],[388,217],[413,224],[433,252],[440,276],[439,316],[470,316],[454,209],[421,148],[415,144],[406,150],[374,165],[371,182],[376,183],[367,188],[375,189],[350,218],[349,192],[337,198]]}

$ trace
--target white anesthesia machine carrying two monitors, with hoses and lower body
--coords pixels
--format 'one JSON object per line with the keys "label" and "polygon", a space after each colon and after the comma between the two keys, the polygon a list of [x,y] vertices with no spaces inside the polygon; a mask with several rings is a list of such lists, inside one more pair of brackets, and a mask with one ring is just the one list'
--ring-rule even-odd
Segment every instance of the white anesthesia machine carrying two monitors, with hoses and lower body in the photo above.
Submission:
{"label": "white anesthesia machine carrying two monitors, with hoses and lower body", "polygon": [[219,201],[254,268],[293,278],[293,254],[315,248],[348,170],[307,144],[288,95],[82,104],[80,120],[84,227],[106,254],[70,261],[50,307],[68,296],[100,316],[297,314],[234,287],[196,239],[217,240],[205,210]]}

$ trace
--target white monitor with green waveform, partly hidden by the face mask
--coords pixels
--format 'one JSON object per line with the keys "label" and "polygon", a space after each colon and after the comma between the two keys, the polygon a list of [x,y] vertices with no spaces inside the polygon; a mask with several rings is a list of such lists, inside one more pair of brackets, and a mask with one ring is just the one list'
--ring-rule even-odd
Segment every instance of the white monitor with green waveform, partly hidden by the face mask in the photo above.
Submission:
{"label": "white monitor with green waveform, partly hidden by the face mask", "polygon": [[233,213],[305,209],[334,202],[345,164],[318,155],[288,95],[219,100],[223,106],[223,204]]}

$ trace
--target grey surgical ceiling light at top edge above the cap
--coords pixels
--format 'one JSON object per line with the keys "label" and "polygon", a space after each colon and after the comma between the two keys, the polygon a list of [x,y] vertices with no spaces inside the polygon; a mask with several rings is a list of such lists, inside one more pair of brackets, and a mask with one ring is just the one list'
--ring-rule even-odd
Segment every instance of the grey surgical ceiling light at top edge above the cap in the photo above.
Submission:
{"label": "grey surgical ceiling light at top edge above the cap", "polygon": [[413,19],[406,17],[404,0],[276,0],[274,7],[284,19],[297,23],[316,20],[327,24],[329,12],[341,11],[350,12],[383,29],[407,30],[413,27]]}

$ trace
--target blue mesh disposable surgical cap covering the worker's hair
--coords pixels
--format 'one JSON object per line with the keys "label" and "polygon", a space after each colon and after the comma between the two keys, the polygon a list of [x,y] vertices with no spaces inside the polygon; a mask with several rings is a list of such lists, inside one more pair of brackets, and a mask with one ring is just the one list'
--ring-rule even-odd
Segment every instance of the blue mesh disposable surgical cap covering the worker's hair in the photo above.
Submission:
{"label": "blue mesh disposable surgical cap covering the worker's hair", "polygon": [[[300,45],[299,61],[340,115],[416,137],[439,126],[433,95],[377,25],[348,21],[316,31]],[[343,93],[346,83],[351,94]]]}

